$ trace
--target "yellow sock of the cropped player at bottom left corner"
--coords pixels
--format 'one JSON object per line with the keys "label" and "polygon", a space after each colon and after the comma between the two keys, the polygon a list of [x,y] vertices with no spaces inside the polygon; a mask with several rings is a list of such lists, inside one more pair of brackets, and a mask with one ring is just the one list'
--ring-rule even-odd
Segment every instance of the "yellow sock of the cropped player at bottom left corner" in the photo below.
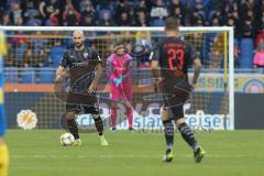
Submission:
{"label": "yellow sock of the cropped player at bottom left corner", "polygon": [[9,167],[9,152],[6,144],[0,145],[0,175],[7,176]]}

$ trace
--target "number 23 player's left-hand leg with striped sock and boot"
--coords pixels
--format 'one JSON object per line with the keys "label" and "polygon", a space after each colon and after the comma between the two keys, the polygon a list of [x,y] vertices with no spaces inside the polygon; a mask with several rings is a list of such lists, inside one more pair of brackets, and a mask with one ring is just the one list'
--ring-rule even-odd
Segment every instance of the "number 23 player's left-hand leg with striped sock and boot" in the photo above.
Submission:
{"label": "number 23 player's left-hand leg with striped sock and boot", "polygon": [[174,146],[174,124],[172,117],[167,112],[167,108],[162,110],[162,121],[164,127],[164,135],[167,144],[165,155],[163,157],[164,162],[172,162],[174,158],[173,146]]}

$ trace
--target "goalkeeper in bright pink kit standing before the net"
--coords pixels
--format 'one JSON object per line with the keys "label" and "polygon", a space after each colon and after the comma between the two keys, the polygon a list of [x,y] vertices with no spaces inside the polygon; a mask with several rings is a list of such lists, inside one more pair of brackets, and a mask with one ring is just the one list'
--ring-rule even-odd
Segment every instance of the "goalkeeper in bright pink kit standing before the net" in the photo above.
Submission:
{"label": "goalkeeper in bright pink kit standing before the net", "polygon": [[133,96],[131,74],[132,57],[125,53],[125,46],[122,42],[116,43],[113,51],[114,53],[107,59],[110,76],[110,98],[113,101],[111,105],[112,131],[117,130],[117,101],[119,99],[122,99],[127,107],[129,130],[134,131],[133,111],[130,103]]}

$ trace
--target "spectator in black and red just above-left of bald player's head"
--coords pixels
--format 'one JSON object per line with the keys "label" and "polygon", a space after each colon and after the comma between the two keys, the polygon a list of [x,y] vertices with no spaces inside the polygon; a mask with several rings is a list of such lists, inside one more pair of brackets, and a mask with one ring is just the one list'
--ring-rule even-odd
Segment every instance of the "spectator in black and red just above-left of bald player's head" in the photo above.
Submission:
{"label": "spectator in black and red just above-left of bald player's head", "polygon": [[65,26],[76,26],[80,23],[80,14],[77,10],[74,9],[72,4],[67,4],[65,7],[65,11],[63,12],[63,24]]}

